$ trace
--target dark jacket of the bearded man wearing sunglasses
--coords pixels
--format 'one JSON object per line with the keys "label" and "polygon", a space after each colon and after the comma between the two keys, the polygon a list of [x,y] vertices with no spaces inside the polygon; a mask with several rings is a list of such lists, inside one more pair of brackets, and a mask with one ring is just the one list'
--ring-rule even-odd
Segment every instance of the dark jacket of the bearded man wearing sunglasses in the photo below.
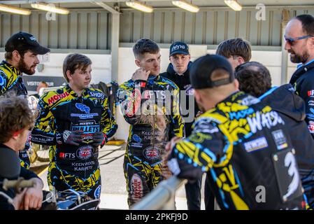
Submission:
{"label": "dark jacket of the bearded man wearing sunglasses", "polygon": [[306,123],[314,138],[314,62],[294,71],[290,84],[306,103]]}

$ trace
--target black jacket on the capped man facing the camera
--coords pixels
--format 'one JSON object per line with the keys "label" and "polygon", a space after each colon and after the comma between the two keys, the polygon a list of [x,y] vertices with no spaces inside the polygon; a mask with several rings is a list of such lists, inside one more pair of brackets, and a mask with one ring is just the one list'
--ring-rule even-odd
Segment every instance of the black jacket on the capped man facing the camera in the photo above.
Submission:
{"label": "black jacket on the capped man facing the camera", "polygon": [[[187,111],[190,111],[190,105],[189,105],[189,97],[193,96],[194,98],[194,89],[192,88],[191,81],[190,81],[190,67],[192,66],[192,62],[189,62],[187,66],[187,71],[183,73],[183,75],[178,75],[176,71],[173,70],[173,66],[170,63],[167,71],[164,73],[161,73],[160,76],[164,76],[164,78],[168,78],[173,83],[176,83],[178,85],[180,91],[185,91],[185,93],[180,92],[180,97],[185,97],[185,102],[181,102],[183,104],[180,105],[181,107],[181,113],[183,116],[183,120],[186,120],[189,114]],[[197,115],[197,112],[199,111],[199,107],[197,106],[197,102],[195,102],[194,99],[194,118]],[[185,136],[188,137],[192,132],[192,122],[185,122]]]}

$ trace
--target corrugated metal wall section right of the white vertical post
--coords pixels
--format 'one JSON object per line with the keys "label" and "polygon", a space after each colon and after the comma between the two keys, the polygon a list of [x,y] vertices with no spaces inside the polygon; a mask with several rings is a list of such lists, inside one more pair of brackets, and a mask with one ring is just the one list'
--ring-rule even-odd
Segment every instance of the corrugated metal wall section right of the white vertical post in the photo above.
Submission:
{"label": "corrugated metal wall section right of the white vertical post", "polygon": [[[282,10],[266,10],[266,20],[257,20],[257,10],[155,10],[154,13],[124,11],[121,16],[120,42],[134,43],[151,38],[157,43],[185,41],[190,44],[216,45],[227,38],[242,37],[252,45],[281,44]],[[314,10],[292,10],[290,15]]]}

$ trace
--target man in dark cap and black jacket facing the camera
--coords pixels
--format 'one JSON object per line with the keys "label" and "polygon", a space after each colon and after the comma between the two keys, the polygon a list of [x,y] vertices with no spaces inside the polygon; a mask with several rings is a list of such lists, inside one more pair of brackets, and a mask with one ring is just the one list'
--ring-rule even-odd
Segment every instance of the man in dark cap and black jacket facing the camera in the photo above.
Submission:
{"label": "man in dark cap and black jacket facing the camera", "polygon": [[[176,41],[171,44],[169,49],[169,66],[166,72],[160,74],[176,83],[180,89],[180,107],[183,120],[185,121],[185,135],[187,137],[192,132],[194,118],[197,116],[197,112],[199,112],[194,99],[194,89],[190,82],[190,68],[192,66],[190,59],[188,45],[184,42]],[[186,183],[185,195],[187,197],[187,209],[200,210],[201,179],[195,181],[195,183]]]}

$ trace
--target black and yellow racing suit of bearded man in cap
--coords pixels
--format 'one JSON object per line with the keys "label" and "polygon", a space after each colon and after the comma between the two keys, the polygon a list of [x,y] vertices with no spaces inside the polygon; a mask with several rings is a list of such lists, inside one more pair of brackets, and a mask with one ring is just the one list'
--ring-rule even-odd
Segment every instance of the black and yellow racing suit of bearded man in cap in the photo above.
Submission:
{"label": "black and yellow racing suit of bearded man in cap", "polygon": [[[27,98],[27,89],[23,83],[22,72],[14,66],[2,61],[0,64],[0,96],[22,96]],[[30,141],[27,141],[25,148],[19,152],[21,165],[29,169],[31,162],[27,151],[30,148]]]}

